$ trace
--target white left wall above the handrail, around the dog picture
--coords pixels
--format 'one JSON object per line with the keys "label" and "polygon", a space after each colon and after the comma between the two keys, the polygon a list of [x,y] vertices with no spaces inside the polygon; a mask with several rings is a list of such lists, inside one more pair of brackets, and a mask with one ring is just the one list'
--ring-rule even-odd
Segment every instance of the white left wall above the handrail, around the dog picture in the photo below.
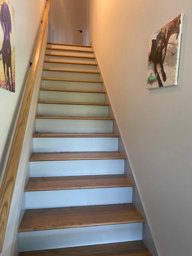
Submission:
{"label": "white left wall above the handrail, around the dog picture", "polygon": [[15,93],[0,89],[0,184],[46,0],[11,0],[15,10]]}

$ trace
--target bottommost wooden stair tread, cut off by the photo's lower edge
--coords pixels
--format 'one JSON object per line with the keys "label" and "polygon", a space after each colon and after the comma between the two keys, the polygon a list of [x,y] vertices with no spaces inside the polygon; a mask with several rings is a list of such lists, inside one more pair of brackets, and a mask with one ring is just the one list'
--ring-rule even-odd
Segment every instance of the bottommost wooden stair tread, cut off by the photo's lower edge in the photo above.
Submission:
{"label": "bottommost wooden stair tread, cut off by the photo's lower edge", "polygon": [[142,240],[20,252],[19,256],[152,256]]}

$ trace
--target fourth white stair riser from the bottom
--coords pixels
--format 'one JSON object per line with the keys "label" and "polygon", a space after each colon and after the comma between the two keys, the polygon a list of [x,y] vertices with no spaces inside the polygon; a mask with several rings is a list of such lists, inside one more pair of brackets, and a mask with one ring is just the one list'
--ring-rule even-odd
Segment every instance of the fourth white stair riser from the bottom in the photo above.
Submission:
{"label": "fourth white stair riser from the bottom", "polygon": [[118,138],[33,138],[33,152],[118,151]]}

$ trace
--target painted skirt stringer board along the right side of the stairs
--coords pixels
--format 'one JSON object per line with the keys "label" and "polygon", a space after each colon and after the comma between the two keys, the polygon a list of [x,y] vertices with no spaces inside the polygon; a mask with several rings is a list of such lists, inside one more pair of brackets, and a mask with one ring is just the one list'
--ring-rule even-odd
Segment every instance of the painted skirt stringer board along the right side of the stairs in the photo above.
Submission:
{"label": "painted skirt stringer board along the right side of the stairs", "polygon": [[113,132],[116,133],[116,134],[119,134],[118,151],[126,156],[125,165],[124,165],[124,173],[134,183],[132,203],[138,209],[138,211],[142,214],[142,216],[145,218],[145,222],[143,223],[142,239],[143,239],[143,242],[145,243],[145,245],[147,246],[147,248],[149,249],[149,251],[152,253],[152,255],[153,256],[158,256],[158,252],[157,252],[157,249],[156,249],[156,246],[155,246],[154,234],[153,234],[152,228],[150,227],[150,224],[148,222],[147,213],[146,213],[146,210],[144,209],[145,206],[144,206],[144,203],[142,202],[142,196],[141,196],[141,192],[140,192],[139,187],[138,187],[137,179],[136,179],[133,167],[131,165],[131,161],[130,161],[130,158],[129,158],[129,155],[128,155],[128,151],[125,148],[125,144],[124,144],[123,139],[121,137],[121,132],[120,132],[121,129],[119,128],[119,125],[116,121],[115,114],[113,112],[113,107],[112,107],[111,102],[110,102],[110,97],[108,96],[108,93],[107,93],[108,90],[107,90],[107,86],[105,85],[104,76],[103,76],[102,71],[100,69],[101,65],[99,65],[99,61],[98,61],[97,56],[95,54],[93,41],[91,41],[91,42],[92,42],[93,56],[95,57],[95,63],[98,64],[98,71],[100,72],[100,80],[103,82],[102,90],[106,91],[105,103],[109,104],[109,116],[114,119],[113,120]]}

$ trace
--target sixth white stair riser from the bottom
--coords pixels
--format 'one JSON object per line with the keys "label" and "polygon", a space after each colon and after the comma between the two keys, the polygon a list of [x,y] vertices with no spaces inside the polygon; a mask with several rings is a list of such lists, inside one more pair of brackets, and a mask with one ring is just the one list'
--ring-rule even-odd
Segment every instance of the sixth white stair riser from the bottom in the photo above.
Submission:
{"label": "sixth white stair riser from the bottom", "polygon": [[108,117],[109,106],[38,104],[40,116]]}

